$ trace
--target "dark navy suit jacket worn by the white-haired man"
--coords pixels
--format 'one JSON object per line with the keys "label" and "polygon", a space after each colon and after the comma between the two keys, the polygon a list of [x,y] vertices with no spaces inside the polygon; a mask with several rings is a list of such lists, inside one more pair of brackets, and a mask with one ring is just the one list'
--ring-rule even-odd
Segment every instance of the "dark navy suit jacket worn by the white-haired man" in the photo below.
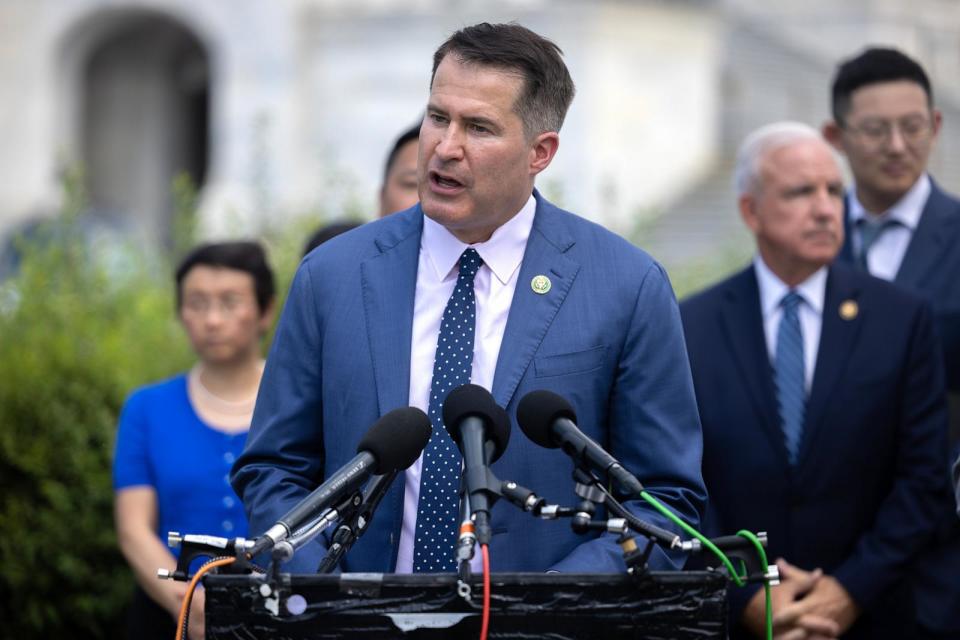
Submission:
{"label": "dark navy suit jacket worn by the white-haired man", "polygon": [[[857,305],[856,317],[841,317],[845,301]],[[866,612],[862,637],[887,637],[865,629],[884,618],[877,604],[932,535],[943,488],[943,366],[928,306],[830,268],[796,467],[753,267],[684,301],[681,315],[703,423],[707,529],[768,532],[771,560],[822,567]],[[752,593],[733,594],[735,620]]]}

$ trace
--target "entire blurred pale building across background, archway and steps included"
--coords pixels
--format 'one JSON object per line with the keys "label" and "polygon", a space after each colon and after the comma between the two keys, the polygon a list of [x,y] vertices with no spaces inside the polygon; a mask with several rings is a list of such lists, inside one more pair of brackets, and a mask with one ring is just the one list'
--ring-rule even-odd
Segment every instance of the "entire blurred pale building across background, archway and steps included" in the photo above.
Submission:
{"label": "entire blurred pale building across background, archway and steps included", "polygon": [[[949,138],[957,3],[917,0],[4,0],[0,235],[54,214],[83,170],[92,217],[169,241],[176,175],[207,236],[284,218],[372,218],[393,138],[421,116],[433,50],[479,21],[565,52],[577,97],[538,183],[668,262],[738,236],[729,172],[770,120],[819,124],[833,65],[868,42],[919,56]],[[941,144],[946,186],[960,161]],[[638,226],[638,222],[642,223]]]}

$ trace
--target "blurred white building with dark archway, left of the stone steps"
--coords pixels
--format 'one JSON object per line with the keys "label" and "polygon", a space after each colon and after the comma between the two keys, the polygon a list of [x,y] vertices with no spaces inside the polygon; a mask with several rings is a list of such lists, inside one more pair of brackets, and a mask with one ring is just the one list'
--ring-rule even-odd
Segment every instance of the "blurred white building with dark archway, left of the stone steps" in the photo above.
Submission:
{"label": "blurred white building with dark archway, left of the stone steps", "polygon": [[565,51],[578,96],[541,187],[627,224],[713,155],[710,3],[34,0],[0,3],[0,227],[50,215],[82,167],[91,213],[169,237],[171,183],[207,235],[306,211],[373,217],[382,162],[416,122],[432,53],[518,20]]}

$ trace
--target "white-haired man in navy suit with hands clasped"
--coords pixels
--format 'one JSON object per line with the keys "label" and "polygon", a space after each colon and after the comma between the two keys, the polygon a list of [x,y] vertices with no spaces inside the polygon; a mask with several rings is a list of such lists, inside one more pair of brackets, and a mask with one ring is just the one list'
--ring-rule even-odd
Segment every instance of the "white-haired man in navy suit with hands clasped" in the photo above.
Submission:
{"label": "white-haired man in navy suit with hands clasped", "polygon": [[[843,186],[806,125],[749,136],[739,208],[757,257],[681,304],[704,433],[707,528],[767,531],[784,638],[910,637],[898,587],[932,534],[946,441],[928,305],[846,266]],[[731,596],[759,635],[763,593]]]}

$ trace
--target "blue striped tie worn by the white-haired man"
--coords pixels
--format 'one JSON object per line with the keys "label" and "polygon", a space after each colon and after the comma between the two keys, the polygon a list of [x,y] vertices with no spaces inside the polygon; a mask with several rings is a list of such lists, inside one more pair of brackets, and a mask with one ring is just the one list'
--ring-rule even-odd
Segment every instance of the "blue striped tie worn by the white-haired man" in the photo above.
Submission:
{"label": "blue striped tie worn by the white-haired man", "polygon": [[803,333],[797,313],[802,301],[800,294],[790,291],[780,302],[783,317],[780,318],[780,327],[777,330],[777,353],[774,359],[777,407],[790,464],[797,463],[807,408],[803,376]]}

